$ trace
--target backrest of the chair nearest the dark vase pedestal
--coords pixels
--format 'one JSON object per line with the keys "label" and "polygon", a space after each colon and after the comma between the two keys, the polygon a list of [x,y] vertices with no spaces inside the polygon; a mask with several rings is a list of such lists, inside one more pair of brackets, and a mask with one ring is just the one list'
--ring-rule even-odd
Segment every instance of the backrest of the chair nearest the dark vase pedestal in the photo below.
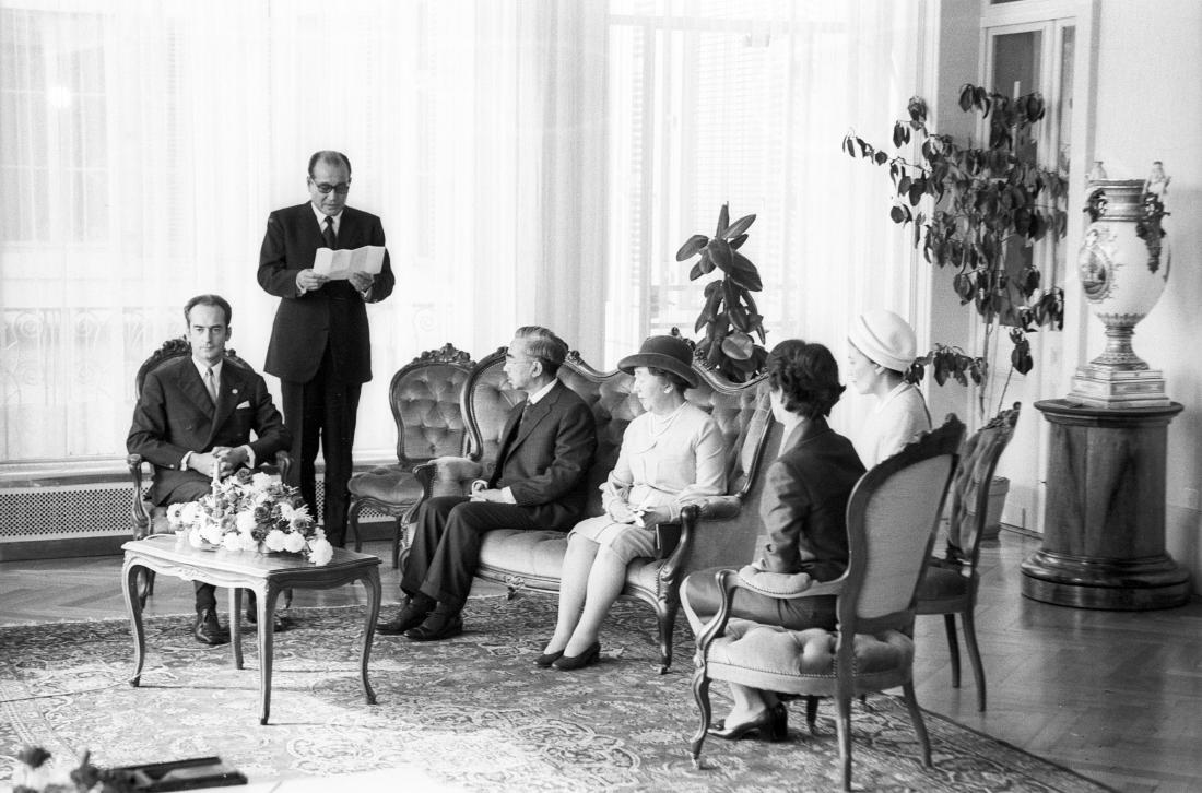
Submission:
{"label": "backrest of the chair nearest the dark vase pedestal", "polygon": [[1014,436],[1020,409],[1022,405],[1014,403],[1013,407],[994,416],[964,441],[964,448],[960,449],[960,461],[952,479],[947,542],[956,548],[960,561],[968,565],[970,572],[976,570],[981,558],[981,536],[984,533],[989,511],[989,483],[1001,453]]}

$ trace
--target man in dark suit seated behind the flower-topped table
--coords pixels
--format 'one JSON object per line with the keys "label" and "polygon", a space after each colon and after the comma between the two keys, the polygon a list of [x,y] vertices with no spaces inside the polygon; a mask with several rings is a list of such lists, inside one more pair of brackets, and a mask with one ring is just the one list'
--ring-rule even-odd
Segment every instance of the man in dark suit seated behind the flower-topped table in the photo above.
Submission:
{"label": "man in dark suit seated behind the flower-topped table", "polygon": [[[184,306],[192,354],[147,372],[125,446],[154,465],[155,506],[196,501],[212,489],[214,472],[226,477],[269,463],[292,442],[262,376],[225,357],[230,317],[224,298],[194,297]],[[204,644],[228,640],[212,584],[196,583],[192,633]]]}

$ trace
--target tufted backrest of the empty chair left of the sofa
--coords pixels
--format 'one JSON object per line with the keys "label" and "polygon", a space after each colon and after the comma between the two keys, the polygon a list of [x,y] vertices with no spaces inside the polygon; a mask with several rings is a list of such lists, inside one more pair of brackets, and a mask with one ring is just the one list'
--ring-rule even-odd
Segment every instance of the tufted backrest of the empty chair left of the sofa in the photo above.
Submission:
{"label": "tufted backrest of the empty chair left of the sofa", "polygon": [[466,453],[459,395],[476,362],[445,344],[423,352],[392,376],[388,404],[397,422],[397,461],[404,467]]}

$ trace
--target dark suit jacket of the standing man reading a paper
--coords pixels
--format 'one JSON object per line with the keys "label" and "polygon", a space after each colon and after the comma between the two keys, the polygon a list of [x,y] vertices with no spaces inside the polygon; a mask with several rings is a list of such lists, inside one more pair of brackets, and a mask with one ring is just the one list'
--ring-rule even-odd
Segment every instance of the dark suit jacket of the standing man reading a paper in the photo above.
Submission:
{"label": "dark suit jacket of the standing man reading a paper", "polygon": [[[383,244],[379,217],[351,207],[343,209],[339,249]],[[363,296],[350,281],[329,281],[304,294],[297,288],[297,273],[311,268],[317,249],[325,246],[311,203],[278,209],[268,216],[258,254],[258,284],[281,299],[263,369],[280,380],[308,382],[317,374],[328,344],[333,376],[346,383],[365,383],[371,380],[371,338]],[[385,251],[383,267],[367,302],[385,299],[394,284]]]}

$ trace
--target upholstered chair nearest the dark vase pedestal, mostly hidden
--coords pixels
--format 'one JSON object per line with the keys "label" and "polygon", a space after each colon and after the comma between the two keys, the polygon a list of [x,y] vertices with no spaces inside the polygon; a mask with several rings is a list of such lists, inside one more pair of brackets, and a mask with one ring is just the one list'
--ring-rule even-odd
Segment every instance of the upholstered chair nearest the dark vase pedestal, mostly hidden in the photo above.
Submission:
{"label": "upholstered chair nearest the dark vase pedestal, mostly hidden", "polygon": [[976,679],[977,710],[984,710],[986,703],[984,664],[976,642],[975,613],[977,590],[981,586],[977,562],[988,519],[989,482],[1001,453],[1014,435],[1019,407],[1014,403],[1012,409],[998,413],[964,442],[952,479],[946,556],[930,560],[918,585],[917,613],[944,615],[953,688],[960,687],[960,651],[956,639],[956,615],[960,615],[964,646],[968,648],[972,676]]}

